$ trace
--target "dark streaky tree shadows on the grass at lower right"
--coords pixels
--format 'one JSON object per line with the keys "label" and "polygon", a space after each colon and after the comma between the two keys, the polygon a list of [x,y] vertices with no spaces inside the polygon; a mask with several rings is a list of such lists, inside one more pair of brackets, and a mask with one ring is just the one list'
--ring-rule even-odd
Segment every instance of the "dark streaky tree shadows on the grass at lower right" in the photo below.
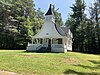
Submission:
{"label": "dark streaky tree shadows on the grass at lower right", "polygon": [[[79,71],[76,71],[76,70],[73,70],[73,69],[67,69],[63,74],[68,74],[68,75],[74,75],[74,74],[77,74],[77,75],[100,75],[100,72],[96,72],[100,70],[100,61],[94,61],[94,60],[89,60],[89,62],[93,63],[95,66],[85,66],[85,65],[74,65],[76,68],[77,67],[81,67],[81,68],[84,68],[84,69],[90,69],[91,72],[79,72]],[[95,71],[95,72],[93,72]]]}

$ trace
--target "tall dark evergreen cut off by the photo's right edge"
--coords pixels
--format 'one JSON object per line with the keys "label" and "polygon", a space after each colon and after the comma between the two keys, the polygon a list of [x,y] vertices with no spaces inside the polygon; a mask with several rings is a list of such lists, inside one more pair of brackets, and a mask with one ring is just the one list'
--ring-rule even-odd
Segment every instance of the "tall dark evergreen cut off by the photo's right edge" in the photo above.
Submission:
{"label": "tall dark evergreen cut off by the photo's right edge", "polygon": [[96,0],[90,8],[90,21],[92,28],[92,50],[100,53],[100,0]]}

